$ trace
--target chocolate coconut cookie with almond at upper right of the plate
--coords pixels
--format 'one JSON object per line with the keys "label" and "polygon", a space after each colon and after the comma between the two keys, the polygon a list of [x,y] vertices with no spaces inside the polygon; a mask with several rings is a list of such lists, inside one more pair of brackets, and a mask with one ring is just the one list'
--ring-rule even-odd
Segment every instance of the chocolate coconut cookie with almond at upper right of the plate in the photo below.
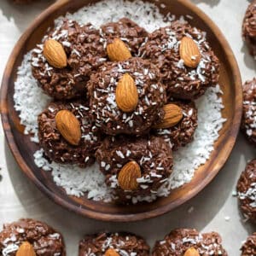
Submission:
{"label": "chocolate coconut cookie with almond at upper right of the plate", "polygon": [[169,100],[196,99],[218,84],[219,62],[206,33],[187,22],[177,20],[149,34],[140,55],[160,68]]}

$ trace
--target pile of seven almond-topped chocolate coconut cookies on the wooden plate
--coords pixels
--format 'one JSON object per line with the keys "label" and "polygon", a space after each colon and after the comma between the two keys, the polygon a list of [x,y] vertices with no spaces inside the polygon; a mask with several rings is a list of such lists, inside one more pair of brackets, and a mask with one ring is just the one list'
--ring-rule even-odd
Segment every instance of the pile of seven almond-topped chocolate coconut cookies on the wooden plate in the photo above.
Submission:
{"label": "pile of seven almond-topped chocolate coconut cookies on the wooden plate", "polygon": [[120,203],[170,177],[172,151],[194,137],[194,100],[219,77],[205,33],[181,20],[148,33],[127,18],[100,29],[65,19],[31,63],[54,100],[38,116],[44,154],[81,167],[96,160]]}

